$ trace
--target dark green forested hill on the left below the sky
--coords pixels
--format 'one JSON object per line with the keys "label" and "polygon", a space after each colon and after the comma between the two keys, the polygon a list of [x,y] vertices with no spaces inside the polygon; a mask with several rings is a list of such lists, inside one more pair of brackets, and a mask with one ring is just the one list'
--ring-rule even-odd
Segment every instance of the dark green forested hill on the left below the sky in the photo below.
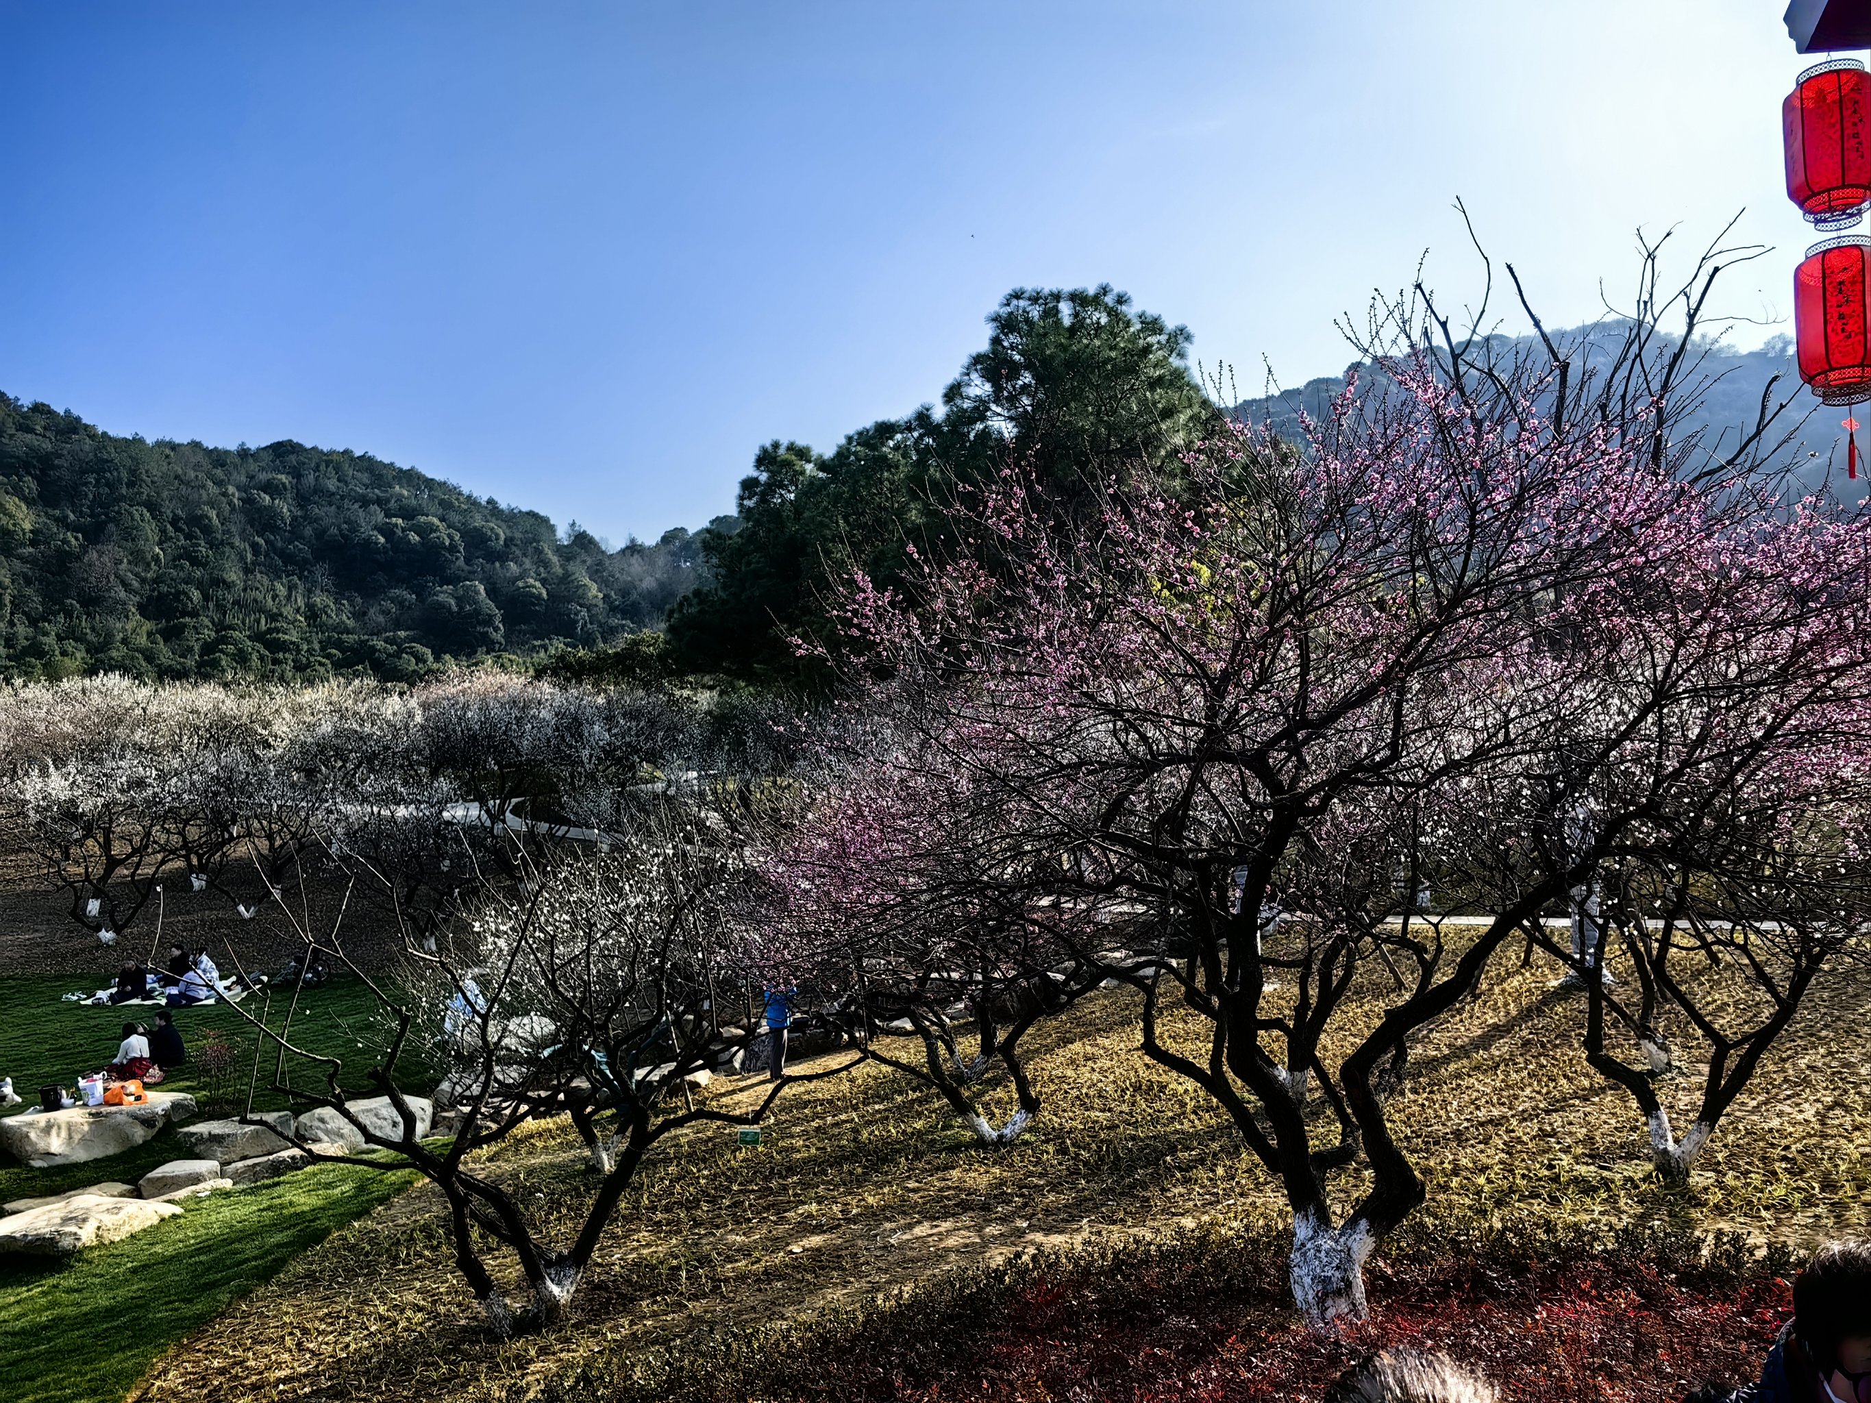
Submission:
{"label": "dark green forested hill on the left below the sky", "polygon": [[148,443],[0,395],[6,677],[406,679],[616,642],[705,572],[681,528],[608,550],[369,455]]}

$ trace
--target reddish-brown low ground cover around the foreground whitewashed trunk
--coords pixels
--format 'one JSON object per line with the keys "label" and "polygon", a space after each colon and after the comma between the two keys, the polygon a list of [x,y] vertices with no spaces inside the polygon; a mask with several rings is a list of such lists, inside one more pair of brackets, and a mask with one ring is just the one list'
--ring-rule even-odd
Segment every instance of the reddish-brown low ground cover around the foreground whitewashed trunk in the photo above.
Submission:
{"label": "reddish-brown low ground cover around the foreground whitewashed trunk", "polygon": [[[1751,1381],[1792,1309],[1791,1261],[1738,1240],[1414,1242],[1371,1265],[1368,1321],[1298,1321],[1272,1233],[1029,1259],[819,1326],[722,1332],[587,1364],[546,1399],[1246,1403],[1317,1399],[1364,1354],[1441,1349],[1514,1399],[1663,1403]],[[1222,1248],[1227,1248],[1226,1251]]]}

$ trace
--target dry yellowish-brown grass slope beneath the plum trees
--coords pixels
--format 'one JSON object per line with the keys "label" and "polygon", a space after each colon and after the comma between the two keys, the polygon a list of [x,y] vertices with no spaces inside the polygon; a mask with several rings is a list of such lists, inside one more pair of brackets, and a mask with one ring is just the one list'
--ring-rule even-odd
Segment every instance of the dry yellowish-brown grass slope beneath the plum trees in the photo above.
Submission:
{"label": "dry yellowish-brown grass slope beneath the plum trees", "polygon": [[[1871,1227],[1862,973],[1815,991],[1787,1044],[1796,1051],[1770,1057],[1691,1188],[1675,1193],[1650,1177],[1630,1102],[1585,1066],[1579,1005],[1553,978],[1547,963],[1502,971],[1416,1051],[1396,1117],[1429,1180],[1431,1231],[1661,1222],[1804,1246]],[[593,1352],[801,1319],[1031,1248],[1267,1220],[1278,1201],[1265,1171],[1194,1089],[1136,1049],[1132,1001],[1111,991],[1037,1029],[1046,1109],[1010,1149],[975,1149],[932,1096],[877,1068],[795,1089],[758,1150],[728,1128],[689,1132],[645,1169],[574,1319],[546,1336],[492,1345],[479,1334],[436,1199],[417,1188],[159,1360],[144,1396],[524,1399]],[[733,1106],[754,1094],[717,1087]],[[1690,1091],[1688,1078],[1675,1083],[1684,1104]],[[541,1212],[586,1184],[559,1124],[509,1145],[494,1167]]]}

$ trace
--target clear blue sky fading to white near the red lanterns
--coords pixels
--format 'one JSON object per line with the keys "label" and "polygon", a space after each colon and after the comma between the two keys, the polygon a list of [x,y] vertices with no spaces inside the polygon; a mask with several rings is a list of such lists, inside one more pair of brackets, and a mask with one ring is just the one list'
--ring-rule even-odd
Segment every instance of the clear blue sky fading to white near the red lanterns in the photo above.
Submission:
{"label": "clear blue sky fading to white near the red lanterns", "polygon": [[1783,7],[0,0],[0,389],[621,542],[936,398],[1012,286],[1113,282],[1242,393],[1334,372],[1426,249],[1478,290],[1456,196],[1559,324],[1746,208],[1725,307],[1774,322]]}

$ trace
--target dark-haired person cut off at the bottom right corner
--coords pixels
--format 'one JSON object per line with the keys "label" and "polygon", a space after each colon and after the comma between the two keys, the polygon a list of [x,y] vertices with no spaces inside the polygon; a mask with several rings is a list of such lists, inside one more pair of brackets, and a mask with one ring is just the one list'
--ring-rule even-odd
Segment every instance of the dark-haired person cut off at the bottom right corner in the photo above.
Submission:
{"label": "dark-haired person cut off at the bottom right corner", "polygon": [[1813,1253],[1759,1382],[1704,1384],[1686,1403],[1871,1403],[1871,1242]]}

